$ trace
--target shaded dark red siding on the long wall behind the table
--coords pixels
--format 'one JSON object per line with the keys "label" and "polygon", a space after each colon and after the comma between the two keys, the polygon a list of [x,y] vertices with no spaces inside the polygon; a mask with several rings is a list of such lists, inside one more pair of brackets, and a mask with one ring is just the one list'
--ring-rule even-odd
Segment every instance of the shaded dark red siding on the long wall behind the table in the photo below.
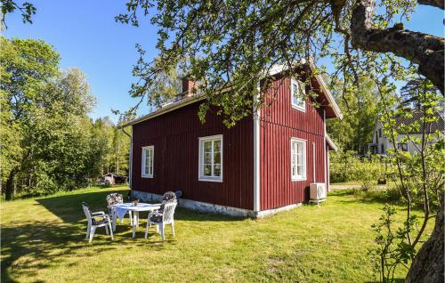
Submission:
{"label": "shaded dark red siding on the long wall behind the table", "polygon": [[[253,121],[227,129],[222,117],[198,120],[199,102],[133,125],[132,189],[162,195],[182,190],[183,198],[253,209]],[[198,181],[198,138],[223,134],[223,182]],[[142,147],[154,145],[154,177],[142,178]]]}

